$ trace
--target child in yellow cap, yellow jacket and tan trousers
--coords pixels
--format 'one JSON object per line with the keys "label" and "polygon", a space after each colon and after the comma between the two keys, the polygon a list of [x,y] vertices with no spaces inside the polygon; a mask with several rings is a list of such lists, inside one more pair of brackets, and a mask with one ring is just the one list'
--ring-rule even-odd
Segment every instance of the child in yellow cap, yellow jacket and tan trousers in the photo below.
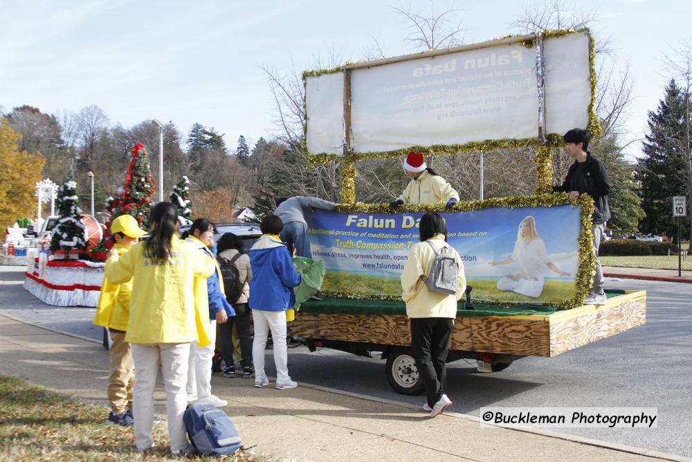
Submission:
{"label": "child in yellow cap, yellow jacket and tan trousers", "polygon": [[[131,215],[120,215],[111,223],[111,236],[116,242],[113,249],[118,255],[125,254],[138,238],[147,233],[140,229]],[[125,341],[132,279],[122,284],[112,284],[104,278],[93,323],[108,328],[111,335],[110,375],[108,376],[108,400],[111,412],[108,421],[124,427],[134,424],[132,419],[132,386],[134,385],[134,362],[130,346]]]}

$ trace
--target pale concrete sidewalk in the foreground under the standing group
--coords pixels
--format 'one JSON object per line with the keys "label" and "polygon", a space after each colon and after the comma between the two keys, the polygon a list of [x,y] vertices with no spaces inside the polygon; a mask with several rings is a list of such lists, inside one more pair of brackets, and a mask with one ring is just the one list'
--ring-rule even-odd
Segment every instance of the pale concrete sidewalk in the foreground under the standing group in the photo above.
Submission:
{"label": "pale concrete sidewalk in the foreground under the standing group", "polygon": [[[0,373],[104,403],[108,353],[0,314]],[[477,418],[430,419],[418,407],[318,387],[255,389],[252,380],[214,377],[246,447],[289,461],[639,461],[686,460],[549,432],[481,427]],[[157,414],[165,418],[159,384]],[[421,398],[422,402],[422,398]],[[104,409],[104,419],[107,409]]]}

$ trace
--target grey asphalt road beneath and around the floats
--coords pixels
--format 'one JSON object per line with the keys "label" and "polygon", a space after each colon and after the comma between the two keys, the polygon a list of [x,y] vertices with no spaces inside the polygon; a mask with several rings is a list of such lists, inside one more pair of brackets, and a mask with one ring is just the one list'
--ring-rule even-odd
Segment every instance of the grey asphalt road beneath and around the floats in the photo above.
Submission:
{"label": "grey asphalt road beneath and around the floats", "polygon": [[[21,287],[18,269],[0,267],[0,310],[39,326],[100,339],[93,309],[55,308]],[[561,428],[610,443],[692,457],[692,285],[606,279],[612,289],[646,290],[646,326],[628,330],[553,358],[526,357],[505,371],[478,373],[460,360],[448,365],[451,411],[478,416],[481,407],[657,407],[651,429]],[[335,350],[289,350],[289,370],[298,382],[421,404],[421,396],[395,393],[381,359]],[[271,350],[267,373],[273,374]],[[234,378],[228,380],[244,380]],[[248,382],[249,385],[249,382]]]}

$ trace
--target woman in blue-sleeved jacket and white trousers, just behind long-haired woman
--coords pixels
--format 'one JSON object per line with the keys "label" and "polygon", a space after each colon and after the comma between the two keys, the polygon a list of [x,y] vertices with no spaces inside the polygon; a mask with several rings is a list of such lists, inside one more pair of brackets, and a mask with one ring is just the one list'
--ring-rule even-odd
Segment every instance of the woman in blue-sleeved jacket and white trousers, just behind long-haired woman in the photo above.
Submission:
{"label": "woman in blue-sleeved jacket and white trousers, just behind long-haired woman", "polygon": [[[235,310],[226,301],[226,294],[221,287],[221,269],[212,250],[214,245],[214,224],[206,218],[197,218],[192,222],[190,231],[185,233],[185,241],[197,247],[208,258],[214,260],[216,271],[207,278],[207,297],[209,303],[209,319],[211,326],[209,335],[211,344],[199,347],[192,344],[190,348],[190,363],[188,366],[188,401],[196,401],[203,404],[212,404],[216,407],[224,407],[228,403],[212,395],[212,359],[216,344],[216,324],[225,323],[229,317],[235,316]],[[202,286],[203,287],[203,286]]]}

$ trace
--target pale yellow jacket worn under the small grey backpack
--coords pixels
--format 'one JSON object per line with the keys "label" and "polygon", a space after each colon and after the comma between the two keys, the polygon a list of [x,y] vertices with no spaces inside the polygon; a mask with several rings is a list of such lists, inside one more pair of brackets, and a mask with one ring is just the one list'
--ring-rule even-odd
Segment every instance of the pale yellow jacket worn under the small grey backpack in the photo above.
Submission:
{"label": "pale yellow jacket worn under the small grey backpack", "polygon": [[466,290],[464,263],[454,247],[444,242],[444,236],[441,234],[432,236],[428,241],[438,252],[445,245],[449,247],[449,251],[459,264],[459,290],[456,296],[428,290],[421,276],[425,278],[430,273],[435,252],[427,242],[418,242],[408,253],[408,261],[401,274],[403,288],[401,299],[406,302],[406,315],[410,318],[455,318],[457,317],[457,300],[462,298]]}

